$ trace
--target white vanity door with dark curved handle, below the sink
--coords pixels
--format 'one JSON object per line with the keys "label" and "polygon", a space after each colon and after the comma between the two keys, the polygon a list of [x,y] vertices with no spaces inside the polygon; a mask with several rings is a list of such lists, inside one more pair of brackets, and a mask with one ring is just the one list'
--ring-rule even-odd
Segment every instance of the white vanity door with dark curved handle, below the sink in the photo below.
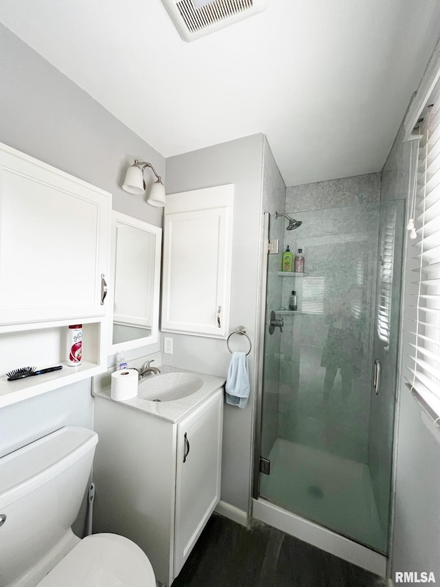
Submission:
{"label": "white vanity door with dark curved handle, below the sink", "polygon": [[220,499],[223,389],[177,427],[174,576]]}

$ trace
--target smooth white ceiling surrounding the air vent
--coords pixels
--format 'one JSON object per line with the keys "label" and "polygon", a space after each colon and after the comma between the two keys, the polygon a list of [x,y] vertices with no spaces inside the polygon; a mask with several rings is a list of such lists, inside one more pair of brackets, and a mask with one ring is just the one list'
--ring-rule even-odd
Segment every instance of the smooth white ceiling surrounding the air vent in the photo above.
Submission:
{"label": "smooth white ceiling surrounding the air vent", "polygon": [[192,43],[161,0],[1,0],[0,21],[163,156],[263,132],[289,186],[382,169],[440,1],[270,0]]}

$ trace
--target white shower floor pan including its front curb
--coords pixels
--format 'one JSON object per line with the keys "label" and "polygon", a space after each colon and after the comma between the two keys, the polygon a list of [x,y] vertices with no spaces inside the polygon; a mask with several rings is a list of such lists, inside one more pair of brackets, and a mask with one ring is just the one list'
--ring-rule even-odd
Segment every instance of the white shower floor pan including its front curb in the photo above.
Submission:
{"label": "white shower floor pan including its front curb", "polygon": [[[274,442],[269,458],[270,475],[261,475],[261,498],[254,500],[254,517],[275,527],[279,527],[279,520],[277,525],[263,517],[281,517],[283,524],[292,525],[293,522],[292,530],[285,526],[280,529],[384,575],[386,558],[357,544],[361,542],[376,550],[386,550],[386,535],[377,515],[368,465],[282,438]],[[263,513],[262,504],[265,504]],[[303,531],[307,536],[310,532],[317,535],[318,542],[322,543],[323,539],[324,542],[317,544],[316,540],[298,534]],[[337,547],[338,544],[342,548]],[[351,553],[351,558],[347,557],[347,552]]]}

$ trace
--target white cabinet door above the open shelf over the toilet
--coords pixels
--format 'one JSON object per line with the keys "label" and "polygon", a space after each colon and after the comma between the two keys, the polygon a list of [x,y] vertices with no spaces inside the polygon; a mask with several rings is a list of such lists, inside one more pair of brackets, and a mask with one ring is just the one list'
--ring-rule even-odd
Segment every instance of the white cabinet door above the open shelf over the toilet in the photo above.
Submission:
{"label": "white cabinet door above the open shelf over the toilet", "polygon": [[0,144],[0,208],[0,323],[104,315],[111,195]]}

